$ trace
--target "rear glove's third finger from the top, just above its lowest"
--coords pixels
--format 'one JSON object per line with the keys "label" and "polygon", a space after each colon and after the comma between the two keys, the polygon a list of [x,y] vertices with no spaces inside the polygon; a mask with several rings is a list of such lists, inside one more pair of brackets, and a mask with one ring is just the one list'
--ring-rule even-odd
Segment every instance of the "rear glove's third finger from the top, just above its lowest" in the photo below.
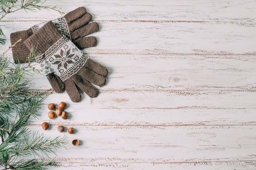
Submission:
{"label": "rear glove's third finger from the top, just above its lowest", "polygon": [[98,30],[99,24],[97,22],[91,22],[89,24],[86,24],[85,26],[80,27],[79,29],[76,29],[74,32],[71,32],[70,35],[72,37],[72,40],[76,40],[77,38],[81,38],[91,33],[95,33]]}

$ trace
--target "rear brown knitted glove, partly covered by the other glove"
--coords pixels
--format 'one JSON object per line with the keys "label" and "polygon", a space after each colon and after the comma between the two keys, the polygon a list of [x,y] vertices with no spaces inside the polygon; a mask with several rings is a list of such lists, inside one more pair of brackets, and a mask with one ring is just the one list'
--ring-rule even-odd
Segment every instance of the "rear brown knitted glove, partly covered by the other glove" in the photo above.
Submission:
{"label": "rear brown knitted glove, partly covered by the other glove", "polygon": [[[61,33],[65,35],[67,38],[71,39],[72,42],[74,42],[74,44],[78,46],[78,48],[85,49],[88,47],[95,46],[97,43],[95,37],[84,37],[91,33],[97,32],[99,29],[99,25],[97,24],[97,22],[89,23],[91,19],[92,15],[86,12],[85,7],[79,7],[74,11],[67,13],[62,18],[52,20],[52,22],[56,25],[58,30],[61,31]],[[27,57],[30,51],[23,44],[23,42],[47,22],[36,24],[25,31],[11,33],[11,45],[17,42],[20,38],[22,38],[20,42],[18,42],[15,46],[12,47],[14,62],[27,62]]]}

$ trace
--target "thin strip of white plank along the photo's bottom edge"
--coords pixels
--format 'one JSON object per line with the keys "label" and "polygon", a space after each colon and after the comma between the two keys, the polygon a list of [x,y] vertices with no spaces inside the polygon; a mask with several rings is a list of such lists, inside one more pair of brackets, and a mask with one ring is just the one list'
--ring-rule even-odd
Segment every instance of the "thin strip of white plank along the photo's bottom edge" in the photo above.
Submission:
{"label": "thin strip of white plank along the photo's bottom edge", "polygon": [[[254,161],[216,161],[216,162],[191,162],[191,163],[58,163],[58,170],[255,170]],[[49,170],[55,168],[49,168]]]}

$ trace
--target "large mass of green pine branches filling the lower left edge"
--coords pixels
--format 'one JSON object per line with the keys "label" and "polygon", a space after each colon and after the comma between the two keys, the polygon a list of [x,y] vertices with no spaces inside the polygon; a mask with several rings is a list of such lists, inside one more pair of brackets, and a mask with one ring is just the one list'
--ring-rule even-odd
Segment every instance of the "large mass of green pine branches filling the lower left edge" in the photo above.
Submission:
{"label": "large mass of green pine branches filling the lower left edge", "polygon": [[56,166],[49,154],[56,154],[56,148],[65,148],[67,137],[51,139],[26,127],[31,118],[40,116],[41,102],[52,93],[52,89],[28,88],[27,75],[40,73],[31,66],[37,56],[32,51],[29,62],[13,64],[4,54],[0,55],[0,170],[44,170]]}

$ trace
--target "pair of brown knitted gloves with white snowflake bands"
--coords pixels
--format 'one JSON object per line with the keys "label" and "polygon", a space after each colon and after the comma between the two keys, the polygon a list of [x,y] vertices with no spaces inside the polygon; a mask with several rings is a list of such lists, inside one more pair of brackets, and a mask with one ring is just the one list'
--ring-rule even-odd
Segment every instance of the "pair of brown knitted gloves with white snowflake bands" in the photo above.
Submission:
{"label": "pair of brown knitted gloves with white snowflake bands", "polygon": [[28,30],[11,33],[15,62],[27,62],[31,49],[35,49],[36,62],[43,68],[52,88],[57,93],[66,91],[73,102],[79,102],[79,89],[89,97],[97,97],[93,86],[106,83],[108,69],[92,61],[79,49],[95,46],[95,37],[85,37],[98,31],[97,22],[90,22],[92,15],[84,7],[67,13],[64,17],[43,22]]}

